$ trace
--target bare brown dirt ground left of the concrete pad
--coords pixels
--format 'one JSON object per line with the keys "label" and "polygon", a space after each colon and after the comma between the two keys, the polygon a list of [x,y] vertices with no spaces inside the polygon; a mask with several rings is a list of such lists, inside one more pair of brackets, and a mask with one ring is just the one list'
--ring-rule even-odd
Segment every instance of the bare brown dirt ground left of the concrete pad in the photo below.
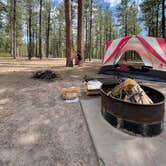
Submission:
{"label": "bare brown dirt ground left of the concrete pad", "polygon": [[[79,103],[66,103],[61,88],[80,86],[100,63],[65,68],[64,59],[0,58],[0,166],[97,166]],[[51,82],[32,79],[56,71]]]}

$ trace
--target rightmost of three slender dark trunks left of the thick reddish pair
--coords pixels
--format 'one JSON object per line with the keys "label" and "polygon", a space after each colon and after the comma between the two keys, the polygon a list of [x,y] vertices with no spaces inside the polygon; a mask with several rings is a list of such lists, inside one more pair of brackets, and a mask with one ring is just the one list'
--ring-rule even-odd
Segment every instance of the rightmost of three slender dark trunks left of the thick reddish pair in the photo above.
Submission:
{"label": "rightmost of three slender dark trunks left of the thick reddish pair", "polygon": [[[51,4],[49,4],[51,5]],[[49,37],[50,37],[50,14],[51,14],[51,6],[48,9],[48,18],[47,18],[47,32],[46,32],[46,57],[49,56]]]}

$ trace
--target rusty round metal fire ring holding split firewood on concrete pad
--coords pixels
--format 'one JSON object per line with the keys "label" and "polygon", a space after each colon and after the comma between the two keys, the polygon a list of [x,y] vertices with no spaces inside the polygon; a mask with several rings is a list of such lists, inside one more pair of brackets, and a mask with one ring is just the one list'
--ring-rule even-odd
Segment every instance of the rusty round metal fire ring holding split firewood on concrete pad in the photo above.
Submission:
{"label": "rusty round metal fire ring holding split firewood on concrete pad", "polygon": [[159,135],[164,128],[164,95],[153,88],[141,85],[154,104],[135,104],[107,96],[115,86],[116,84],[103,84],[101,87],[103,117],[112,126],[132,135]]}

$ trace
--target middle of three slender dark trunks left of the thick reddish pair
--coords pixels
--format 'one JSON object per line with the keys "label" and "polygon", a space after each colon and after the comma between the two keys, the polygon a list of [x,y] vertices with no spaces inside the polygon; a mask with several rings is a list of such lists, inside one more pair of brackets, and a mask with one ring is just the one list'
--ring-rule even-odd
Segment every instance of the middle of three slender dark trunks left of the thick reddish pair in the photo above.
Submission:
{"label": "middle of three slender dark trunks left of the thick reddish pair", "polygon": [[42,59],[42,0],[40,0],[40,13],[39,13],[39,57]]}

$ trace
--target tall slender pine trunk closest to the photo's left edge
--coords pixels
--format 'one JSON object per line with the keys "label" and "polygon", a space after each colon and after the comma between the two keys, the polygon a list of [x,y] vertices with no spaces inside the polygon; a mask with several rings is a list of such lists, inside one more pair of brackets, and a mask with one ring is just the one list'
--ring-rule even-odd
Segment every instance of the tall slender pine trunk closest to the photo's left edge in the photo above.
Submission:
{"label": "tall slender pine trunk closest to the photo's left edge", "polygon": [[17,0],[13,1],[13,58],[16,59],[16,3]]}

